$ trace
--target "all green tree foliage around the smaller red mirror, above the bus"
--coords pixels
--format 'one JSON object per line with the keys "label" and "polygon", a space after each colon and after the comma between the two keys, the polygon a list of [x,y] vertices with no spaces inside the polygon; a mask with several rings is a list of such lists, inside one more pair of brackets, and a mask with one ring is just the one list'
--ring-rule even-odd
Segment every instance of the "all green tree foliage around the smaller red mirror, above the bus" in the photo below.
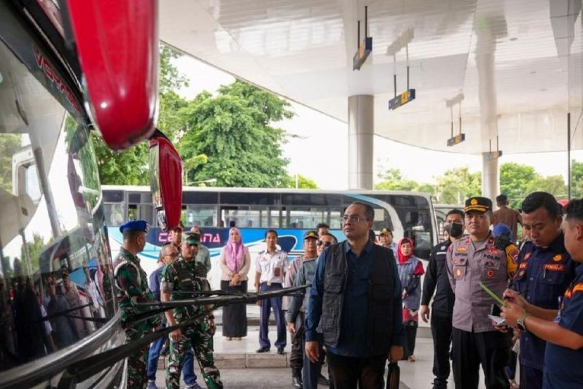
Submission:
{"label": "all green tree foliage around the smaller red mirror, above the bus", "polygon": [[[280,145],[283,131],[273,123],[290,118],[289,103],[275,94],[237,80],[216,96],[202,92],[186,100],[176,91],[187,79],[173,65],[179,54],[160,47],[158,128],[177,146],[187,181],[216,178],[217,185],[277,187],[287,183],[287,160]],[[101,183],[145,185],[147,143],[118,153],[93,135]]]}

